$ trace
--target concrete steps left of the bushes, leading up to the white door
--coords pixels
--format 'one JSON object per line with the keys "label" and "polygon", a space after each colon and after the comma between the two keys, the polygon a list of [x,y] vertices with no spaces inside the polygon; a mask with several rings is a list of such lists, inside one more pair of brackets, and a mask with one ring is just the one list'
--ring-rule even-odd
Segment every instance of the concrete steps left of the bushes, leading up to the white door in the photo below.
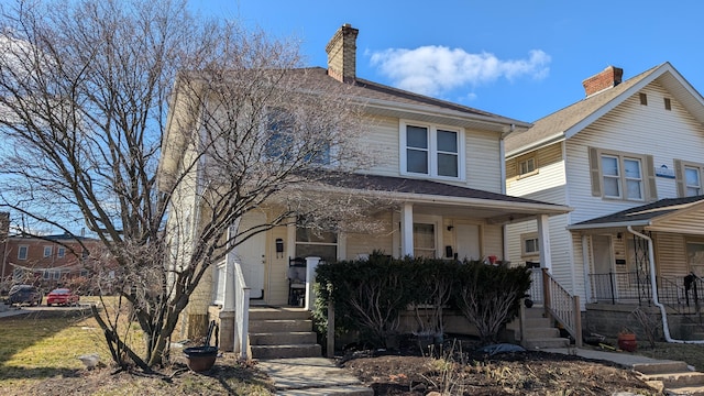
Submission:
{"label": "concrete steps left of the bushes, leading up to the white door", "polygon": [[250,307],[254,359],[320,358],[310,312],[302,308]]}

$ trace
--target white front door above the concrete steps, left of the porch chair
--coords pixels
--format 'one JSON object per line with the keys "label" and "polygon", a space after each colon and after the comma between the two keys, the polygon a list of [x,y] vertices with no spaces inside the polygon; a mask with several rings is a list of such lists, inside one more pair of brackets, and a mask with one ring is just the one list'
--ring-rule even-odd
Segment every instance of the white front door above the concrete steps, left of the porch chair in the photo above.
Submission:
{"label": "white front door above the concrete steps, left of the porch chair", "polygon": [[[244,219],[240,220],[239,229],[248,230],[265,221],[265,213],[250,212]],[[250,298],[262,298],[264,296],[265,244],[266,234],[260,232],[234,249],[237,261],[242,266],[244,282],[250,287]]]}

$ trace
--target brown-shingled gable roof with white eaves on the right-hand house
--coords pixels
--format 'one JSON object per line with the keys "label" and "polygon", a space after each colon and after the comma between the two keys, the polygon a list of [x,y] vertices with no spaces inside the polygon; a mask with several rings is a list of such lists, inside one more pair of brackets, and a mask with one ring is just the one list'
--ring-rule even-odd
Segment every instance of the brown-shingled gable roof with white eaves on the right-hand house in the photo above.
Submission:
{"label": "brown-shingled gable roof with white eaves on the right-hand house", "polygon": [[506,157],[570,139],[652,81],[660,82],[692,116],[704,123],[704,98],[670,64],[663,63],[613,88],[588,96],[506,138]]}

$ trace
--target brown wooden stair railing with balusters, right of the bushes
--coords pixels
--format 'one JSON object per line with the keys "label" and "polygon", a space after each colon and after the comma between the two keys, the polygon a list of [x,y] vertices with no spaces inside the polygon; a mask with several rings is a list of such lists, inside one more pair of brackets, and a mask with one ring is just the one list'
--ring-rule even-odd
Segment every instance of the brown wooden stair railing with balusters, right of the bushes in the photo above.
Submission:
{"label": "brown wooden stair railing with balusters, right of the bushes", "polygon": [[570,336],[576,346],[582,346],[582,311],[580,296],[572,296],[548,268],[542,270],[543,307],[548,317],[554,318]]}

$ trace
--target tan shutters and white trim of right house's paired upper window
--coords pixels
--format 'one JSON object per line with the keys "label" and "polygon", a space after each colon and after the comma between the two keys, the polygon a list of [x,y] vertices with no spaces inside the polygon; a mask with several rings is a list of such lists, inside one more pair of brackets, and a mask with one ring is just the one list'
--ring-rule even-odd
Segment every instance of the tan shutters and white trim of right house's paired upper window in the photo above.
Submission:
{"label": "tan shutters and white trim of right house's paired upper window", "polygon": [[[619,175],[618,187],[619,196],[607,196],[604,190],[604,172],[602,166],[602,158],[604,156],[615,157],[618,161]],[[628,196],[628,182],[632,178],[626,177],[625,162],[627,160],[635,160],[640,163],[640,198],[630,198]],[[601,197],[605,200],[619,200],[619,201],[634,201],[634,202],[649,202],[657,200],[656,189],[656,176],[652,155],[647,154],[634,154],[627,152],[620,152],[615,150],[603,150],[596,147],[588,147],[588,162],[590,173],[592,182],[592,196]]]}

